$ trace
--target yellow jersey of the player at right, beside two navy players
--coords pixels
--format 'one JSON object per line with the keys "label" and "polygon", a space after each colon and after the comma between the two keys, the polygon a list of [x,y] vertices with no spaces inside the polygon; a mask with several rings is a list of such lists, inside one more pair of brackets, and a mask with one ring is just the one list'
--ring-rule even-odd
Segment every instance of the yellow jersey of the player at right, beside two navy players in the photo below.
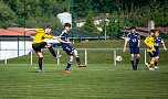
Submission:
{"label": "yellow jersey of the player at right, beside two navy players", "polygon": [[145,42],[146,42],[149,46],[151,46],[151,48],[147,48],[147,52],[153,52],[153,51],[155,51],[155,40],[154,40],[153,36],[147,36],[147,37],[145,38]]}

